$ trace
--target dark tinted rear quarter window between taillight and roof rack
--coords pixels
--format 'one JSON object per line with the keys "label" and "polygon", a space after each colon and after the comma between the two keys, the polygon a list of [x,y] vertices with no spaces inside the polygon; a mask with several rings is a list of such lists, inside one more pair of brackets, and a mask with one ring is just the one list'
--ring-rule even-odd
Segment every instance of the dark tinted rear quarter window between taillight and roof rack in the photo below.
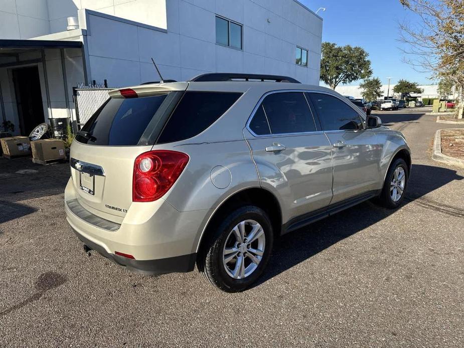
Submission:
{"label": "dark tinted rear quarter window between taillight and roof rack", "polygon": [[222,116],[241,93],[186,92],[157,142],[191,138]]}

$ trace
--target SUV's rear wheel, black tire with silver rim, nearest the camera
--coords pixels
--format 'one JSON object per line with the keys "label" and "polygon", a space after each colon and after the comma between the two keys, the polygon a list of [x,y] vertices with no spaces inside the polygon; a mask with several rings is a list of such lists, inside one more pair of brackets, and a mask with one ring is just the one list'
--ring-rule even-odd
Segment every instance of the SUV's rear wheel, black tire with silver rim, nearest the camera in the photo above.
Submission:
{"label": "SUV's rear wheel, black tire with silver rim, nearest the camera", "polygon": [[207,280],[225,292],[248,289],[269,260],[273,231],[266,212],[256,206],[238,208],[220,219],[197,266]]}

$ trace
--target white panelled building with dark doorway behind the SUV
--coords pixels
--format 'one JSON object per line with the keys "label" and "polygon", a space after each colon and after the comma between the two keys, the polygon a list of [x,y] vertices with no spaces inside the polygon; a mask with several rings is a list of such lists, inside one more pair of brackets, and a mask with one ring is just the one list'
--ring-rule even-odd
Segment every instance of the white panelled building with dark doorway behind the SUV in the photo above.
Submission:
{"label": "white panelled building with dark doorway behind the SUV", "polygon": [[234,72],[318,85],[321,38],[321,17],[296,0],[5,0],[0,120],[28,134],[74,117],[73,87],[158,81],[151,57],[165,79]]}

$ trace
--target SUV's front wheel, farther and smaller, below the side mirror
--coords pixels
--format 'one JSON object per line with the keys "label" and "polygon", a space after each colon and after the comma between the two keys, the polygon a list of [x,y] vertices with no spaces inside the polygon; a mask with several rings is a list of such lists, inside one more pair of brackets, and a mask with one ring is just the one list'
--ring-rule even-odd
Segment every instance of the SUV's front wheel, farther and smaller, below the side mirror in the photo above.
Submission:
{"label": "SUV's front wheel, farther and smaller, below the side mirror", "polygon": [[382,193],[375,200],[377,204],[395,209],[403,202],[408,186],[409,171],[404,159],[397,158],[388,168]]}

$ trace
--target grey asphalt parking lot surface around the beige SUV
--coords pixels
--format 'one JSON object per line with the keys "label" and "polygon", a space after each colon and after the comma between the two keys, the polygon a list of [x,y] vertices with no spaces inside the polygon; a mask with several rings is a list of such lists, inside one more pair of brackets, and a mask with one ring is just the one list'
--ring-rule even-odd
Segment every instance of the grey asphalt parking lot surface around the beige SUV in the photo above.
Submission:
{"label": "grey asphalt parking lot surface around the beige SUV", "polygon": [[88,256],[64,216],[67,165],[0,159],[0,347],[461,347],[464,169],[431,160],[449,125],[428,111],[376,113],[412,148],[399,210],[363,203],[285,235],[238,294]]}

